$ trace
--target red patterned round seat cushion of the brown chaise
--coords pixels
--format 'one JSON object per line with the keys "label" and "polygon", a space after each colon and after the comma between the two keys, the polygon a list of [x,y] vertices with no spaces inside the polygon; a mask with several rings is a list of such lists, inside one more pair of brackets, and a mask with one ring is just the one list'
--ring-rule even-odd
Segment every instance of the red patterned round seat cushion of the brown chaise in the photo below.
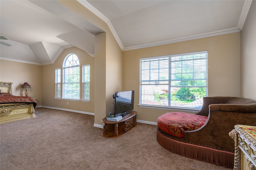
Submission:
{"label": "red patterned round seat cushion of the brown chaise", "polygon": [[185,112],[165,113],[158,117],[158,127],[173,136],[183,137],[184,131],[196,130],[207,120],[207,116],[195,115]]}

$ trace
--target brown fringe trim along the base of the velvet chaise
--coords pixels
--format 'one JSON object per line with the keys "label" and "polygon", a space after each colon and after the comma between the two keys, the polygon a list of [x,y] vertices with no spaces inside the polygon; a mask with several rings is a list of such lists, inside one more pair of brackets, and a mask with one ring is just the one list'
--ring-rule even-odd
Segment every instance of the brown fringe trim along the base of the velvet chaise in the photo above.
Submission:
{"label": "brown fringe trim along the base of the velvet chaise", "polygon": [[225,168],[233,168],[234,166],[234,153],[232,152],[176,141],[166,137],[159,131],[157,131],[156,139],[164,149],[179,154],[180,156],[208,162]]}

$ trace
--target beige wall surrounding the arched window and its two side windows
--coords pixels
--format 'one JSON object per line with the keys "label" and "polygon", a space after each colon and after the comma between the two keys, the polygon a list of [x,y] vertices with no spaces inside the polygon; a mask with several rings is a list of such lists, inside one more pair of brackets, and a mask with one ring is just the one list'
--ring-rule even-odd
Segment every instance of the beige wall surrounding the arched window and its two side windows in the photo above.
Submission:
{"label": "beige wall surrounding the arched window and its two side windows", "polygon": [[[55,69],[62,68],[65,57],[71,53],[78,56],[80,62],[80,73],[82,72],[82,65],[90,64],[90,102],[54,99]],[[94,57],[76,47],[64,49],[54,64],[42,66],[42,72],[42,106],[94,113]],[[80,80],[82,80],[81,74]],[[80,86],[82,86],[82,81],[80,81]],[[80,98],[82,98],[82,90],[80,90]]]}

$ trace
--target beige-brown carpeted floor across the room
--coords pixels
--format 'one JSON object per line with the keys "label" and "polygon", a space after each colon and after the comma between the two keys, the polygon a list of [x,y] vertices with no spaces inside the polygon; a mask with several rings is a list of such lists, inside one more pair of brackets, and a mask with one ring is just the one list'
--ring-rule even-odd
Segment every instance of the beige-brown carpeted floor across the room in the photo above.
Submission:
{"label": "beige-brown carpeted floor across the room", "polygon": [[0,124],[0,170],[228,170],[173,154],[156,126],[138,123],[108,139],[94,116],[37,108],[36,117]]}

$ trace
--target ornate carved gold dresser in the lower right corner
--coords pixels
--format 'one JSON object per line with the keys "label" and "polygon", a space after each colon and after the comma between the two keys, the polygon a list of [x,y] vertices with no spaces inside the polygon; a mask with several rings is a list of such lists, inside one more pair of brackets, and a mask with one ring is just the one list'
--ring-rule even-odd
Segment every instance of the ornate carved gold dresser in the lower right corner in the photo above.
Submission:
{"label": "ornate carved gold dresser in the lower right corner", "polygon": [[234,170],[256,170],[256,127],[234,127],[229,133],[235,142]]}

